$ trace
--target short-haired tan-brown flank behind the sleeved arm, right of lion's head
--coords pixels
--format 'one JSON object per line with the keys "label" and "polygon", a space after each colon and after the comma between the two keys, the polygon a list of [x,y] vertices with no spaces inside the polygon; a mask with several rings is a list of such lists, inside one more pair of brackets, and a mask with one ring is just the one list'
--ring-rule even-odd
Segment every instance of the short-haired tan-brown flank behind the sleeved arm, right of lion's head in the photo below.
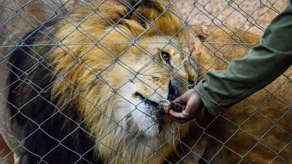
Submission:
{"label": "short-haired tan-brown flank behind the sleeved arm, right of lion's head", "polygon": [[[193,26],[199,30],[199,26]],[[213,31],[208,36],[209,42],[259,44],[260,36],[244,32],[232,27],[229,29],[210,26],[208,30]],[[232,31],[237,31],[235,34]],[[240,40],[237,36],[240,36]],[[208,49],[205,53],[216,52],[217,57],[222,60],[216,62],[217,70],[225,70],[229,60],[242,58],[248,53],[248,48],[243,45],[204,44]],[[222,53],[224,57],[222,57]],[[218,58],[217,58],[218,59]],[[226,62],[226,63],[225,63]],[[291,67],[284,73],[291,74]],[[203,128],[207,127],[205,133],[215,139],[202,135],[201,140],[209,138],[209,143],[203,156],[210,163],[289,163],[292,162],[291,154],[291,83],[280,76],[274,82],[247,99],[239,102],[229,110],[223,112],[213,120],[208,112],[198,118],[197,123]],[[279,87],[279,89],[277,89]],[[270,93],[269,93],[270,92]],[[273,96],[272,94],[273,93]],[[213,121],[211,123],[211,121]],[[198,128],[200,130],[200,128]],[[287,133],[288,132],[288,133]],[[290,134],[289,134],[290,133]],[[217,140],[217,141],[216,141]],[[220,141],[220,142],[218,142]],[[224,143],[224,146],[223,144]],[[200,145],[195,148],[200,147]],[[219,151],[220,150],[220,151]],[[219,152],[218,152],[219,151]],[[214,157],[214,155],[218,154]],[[278,157],[277,157],[278,153]],[[247,162],[240,162],[243,160]],[[275,159],[274,159],[275,158]],[[204,163],[204,162],[203,162]]]}

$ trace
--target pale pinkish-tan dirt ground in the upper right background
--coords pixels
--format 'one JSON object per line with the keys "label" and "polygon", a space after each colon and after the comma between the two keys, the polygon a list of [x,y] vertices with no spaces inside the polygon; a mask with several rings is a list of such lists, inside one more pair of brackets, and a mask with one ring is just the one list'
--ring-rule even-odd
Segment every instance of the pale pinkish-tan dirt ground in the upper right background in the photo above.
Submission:
{"label": "pale pinkish-tan dirt ground in the upper right background", "polygon": [[175,5],[189,24],[223,24],[263,35],[288,0],[178,0]]}

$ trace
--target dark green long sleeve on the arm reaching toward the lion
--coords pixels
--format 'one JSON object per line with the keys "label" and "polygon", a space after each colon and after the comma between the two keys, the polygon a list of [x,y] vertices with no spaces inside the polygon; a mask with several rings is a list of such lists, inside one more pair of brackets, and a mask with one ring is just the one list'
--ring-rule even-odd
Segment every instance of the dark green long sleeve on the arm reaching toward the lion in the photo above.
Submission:
{"label": "dark green long sleeve on the arm reaching toward the lion", "polygon": [[194,88],[211,114],[218,114],[274,81],[292,65],[292,0],[253,46],[225,71],[212,71]]}

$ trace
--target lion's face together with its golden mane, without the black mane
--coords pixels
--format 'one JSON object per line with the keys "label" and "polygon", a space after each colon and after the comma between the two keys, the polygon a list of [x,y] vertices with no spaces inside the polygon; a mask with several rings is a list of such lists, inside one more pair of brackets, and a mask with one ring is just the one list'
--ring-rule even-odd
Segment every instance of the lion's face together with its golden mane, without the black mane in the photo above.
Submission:
{"label": "lion's face together with its golden mane, without the black mane", "polygon": [[[77,109],[97,145],[95,152],[105,163],[120,155],[133,163],[144,163],[156,149],[159,149],[159,155],[170,155],[178,144],[175,137],[179,126],[165,118],[163,130],[158,134],[156,107],[161,100],[173,100],[187,91],[197,79],[198,66],[206,62],[198,62],[192,43],[194,34],[184,22],[171,12],[162,14],[165,8],[162,4],[149,2],[155,4],[157,12],[152,12],[153,5],[149,6],[148,1],[136,12],[150,22],[155,20],[152,28],[145,23],[141,25],[141,21],[133,17],[123,19],[113,28],[99,15],[91,15],[82,23],[82,28],[93,38],[84,36],[65,22],[63,30],[58,32],[59,38],[65,37],[62,43],[91,43],[90,39],[98,38],[98,44],[61,45],[50,56],[50,63],[58,70],[56,74],[65,72],[64,78],[54,85],[52,95],[56,99],[58,96],[64,98],[59,100],[60,105],[76,98]],[[127,11],[117,3],[120,5],[117,12],[108,13],[112,20],[120,20],[120,14]],[[95,28],[92,28],[92,22],[98,22],[94,24]],[[64,49],[79,55],[68,54]],[[189,60],[181,64],[186,57]],[[82,92],[72,92],[71,88],[82,89]],[[68,90],[66,95],[65,89]],[[179,130],[180,137],[187,131],[187,127]],[[145,156],[133,156],[133,153]],[[149,163],[162,161],[157,156],[151,157]]]}

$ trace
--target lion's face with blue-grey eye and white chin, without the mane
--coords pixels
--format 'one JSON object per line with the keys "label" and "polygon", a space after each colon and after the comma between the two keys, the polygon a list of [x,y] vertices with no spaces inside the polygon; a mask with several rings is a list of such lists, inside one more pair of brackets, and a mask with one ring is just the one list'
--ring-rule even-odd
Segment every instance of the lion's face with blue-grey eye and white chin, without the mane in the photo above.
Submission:
{"label": "lion's face with blue-grey eye and white chin, without the mane", "polygon": [[[158,40],[162,43],[149,44]],[[192,55],[192,44],[170,44],[163,37],[141,42],[146,44],[132,46],[120,57],[116,67],[115,75],[120,79],[116,81],[120,86],[117,93],[123,102],[116,116],[117,120],[128,119],[132,133],[154,137],[158,134],[155,123],[158,103],[163,99],[174,100],[189,89],[192,81],[196,81],[196,64],[192,59],[181,64],[185,57]],[[170,128],[164,127],[165,132]]]}

